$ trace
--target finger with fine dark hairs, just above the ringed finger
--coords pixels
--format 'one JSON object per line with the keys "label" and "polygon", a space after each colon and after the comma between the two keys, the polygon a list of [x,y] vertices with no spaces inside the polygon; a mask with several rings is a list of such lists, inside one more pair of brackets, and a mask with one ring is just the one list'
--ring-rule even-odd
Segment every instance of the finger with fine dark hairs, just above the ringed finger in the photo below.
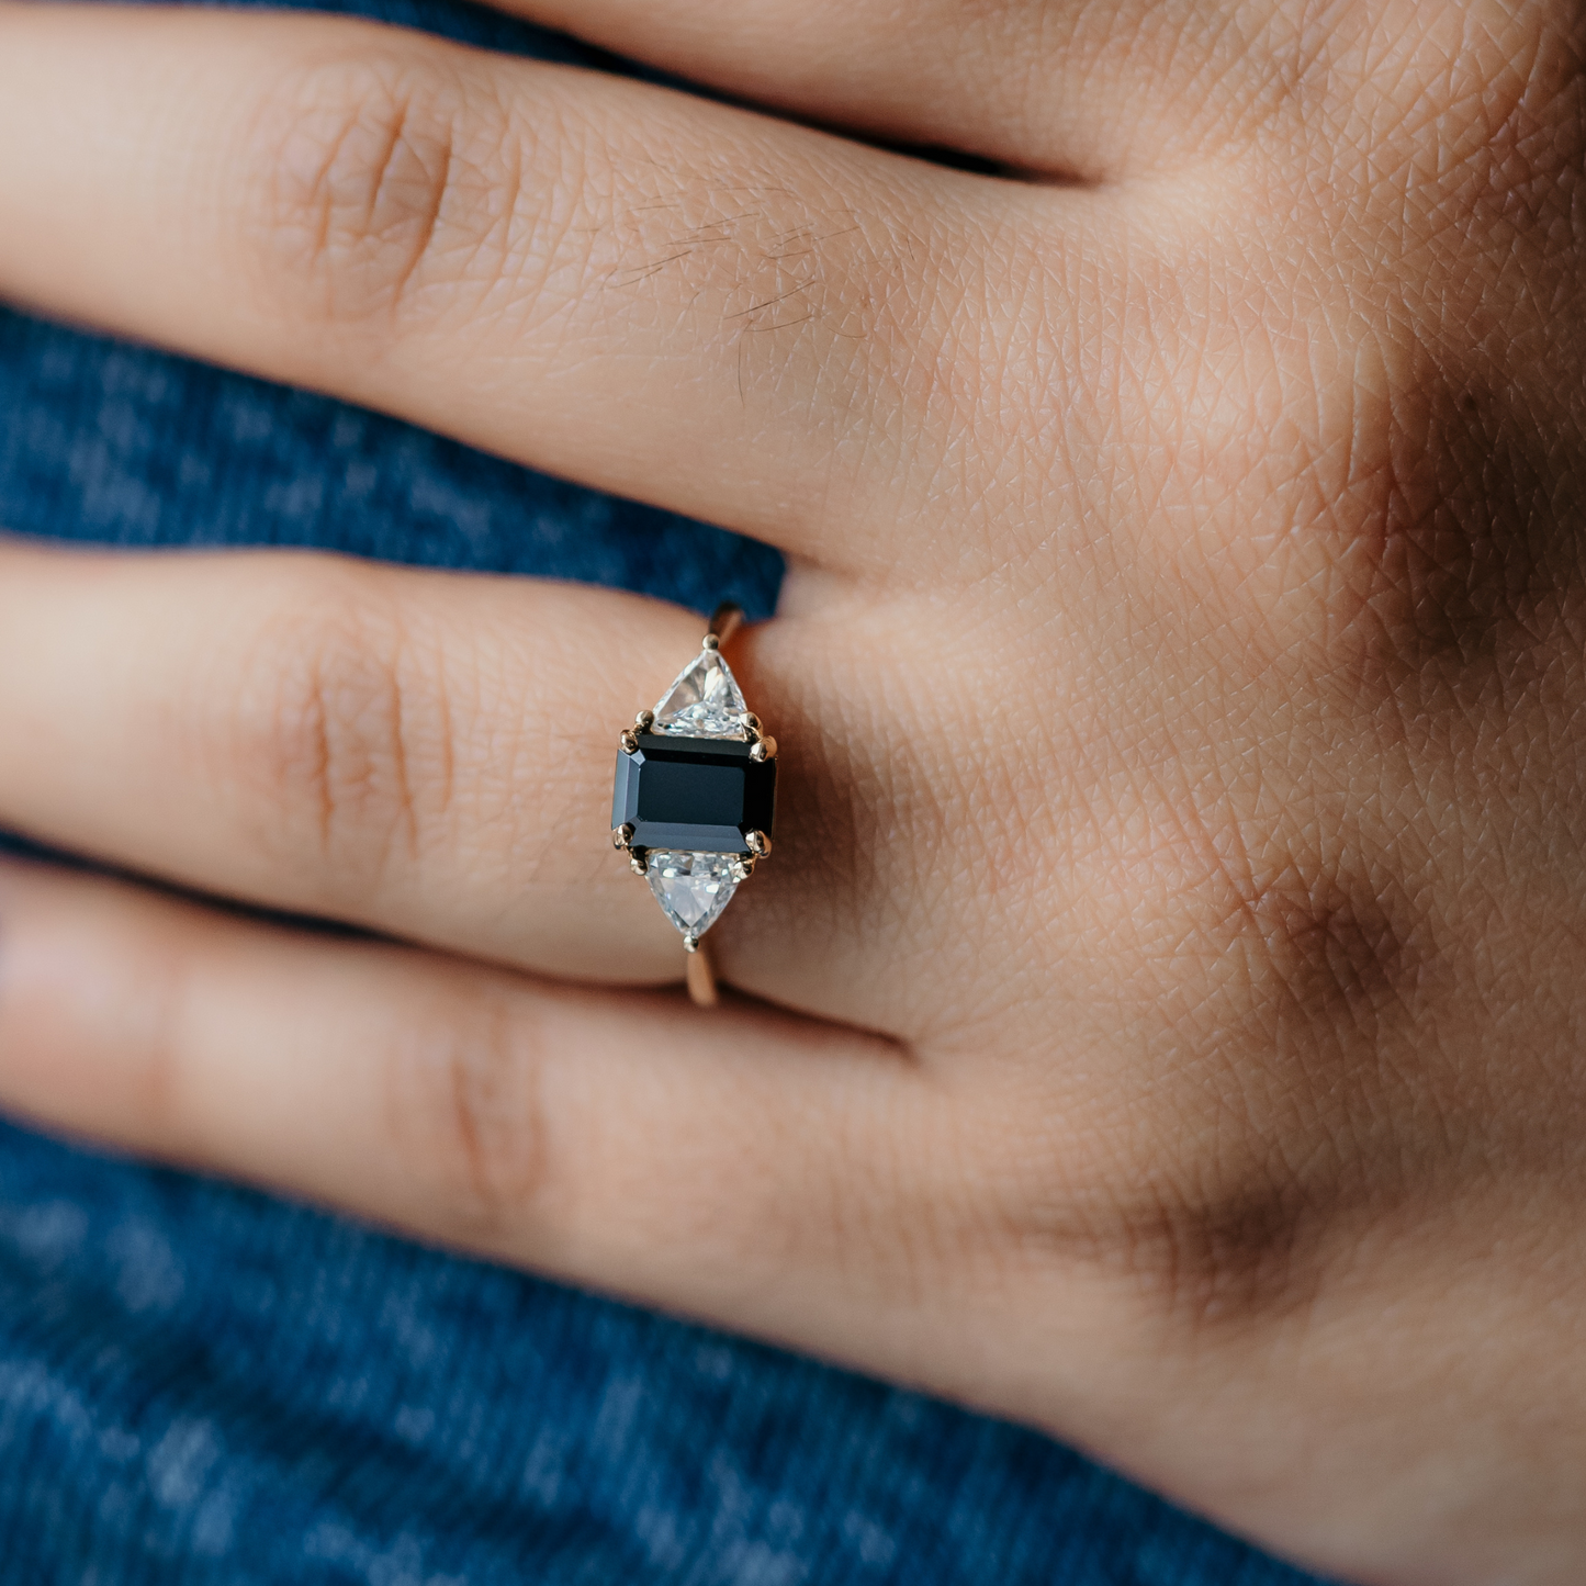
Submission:
{"label": "finger with fine dark hairs, just above the ringed finger", "polygon": [[0,6],[0,292],[842,566],[934,473],[993,224],[956,173],[311,17]]}

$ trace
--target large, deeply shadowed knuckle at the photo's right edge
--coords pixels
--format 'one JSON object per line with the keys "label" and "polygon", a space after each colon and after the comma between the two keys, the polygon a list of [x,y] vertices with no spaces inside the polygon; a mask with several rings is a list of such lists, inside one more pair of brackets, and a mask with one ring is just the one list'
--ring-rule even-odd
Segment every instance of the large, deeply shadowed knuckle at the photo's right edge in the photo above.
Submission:
{"label": "large, deeply shadowed knuckle at the photo's right edge", "polygon": [[1237,420],[1197,435],[1234,508],[1213,560],[1180,557],[1209,622],[1377,698],[1491,666],[1554,622],[1581,571],[1575,501],[1565,450],[1527,420],[1529,377],[1423,322],[1318,336],[1304,368],[1251,381]]}

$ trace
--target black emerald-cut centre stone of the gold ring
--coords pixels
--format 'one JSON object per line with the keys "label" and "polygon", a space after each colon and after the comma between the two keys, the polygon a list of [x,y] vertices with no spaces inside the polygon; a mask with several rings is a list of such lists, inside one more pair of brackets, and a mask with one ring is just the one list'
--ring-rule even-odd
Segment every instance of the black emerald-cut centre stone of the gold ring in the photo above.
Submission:
{"label": "black emerald-cut centre stone of the gold ring", "polygon": [[641,733],[617,755],[611,823],[633,826],[636,849],[747,853],[752,831],[771,836],[776,807],[777,763],[730,737]]}

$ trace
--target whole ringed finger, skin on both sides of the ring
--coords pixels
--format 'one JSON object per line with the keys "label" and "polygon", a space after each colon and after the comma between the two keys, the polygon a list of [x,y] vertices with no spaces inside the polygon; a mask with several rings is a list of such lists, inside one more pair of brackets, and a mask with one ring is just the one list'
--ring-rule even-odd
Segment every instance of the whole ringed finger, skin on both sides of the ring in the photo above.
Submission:
{"label": "whole ringed finger, skin on both sides of the ring", "polygon": [[[612,850],[612,771],[701,626],[530,579],[0,542],[0,826],[539,974],[672,983],[679,936]],[[888,899],[931,863],[896,839],[929,806],[928,718],[882,693],[939,638],[875,603],[731,642],[782,747],[776,852],[712,928],[728,983],[923,1028],[936,993],[901,960],[936,917]]]}

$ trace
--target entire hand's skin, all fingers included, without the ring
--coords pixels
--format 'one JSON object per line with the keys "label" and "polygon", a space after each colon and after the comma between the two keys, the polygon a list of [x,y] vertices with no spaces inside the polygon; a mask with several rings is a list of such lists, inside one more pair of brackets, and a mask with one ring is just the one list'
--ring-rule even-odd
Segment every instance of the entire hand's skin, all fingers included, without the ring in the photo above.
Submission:
{"label": "entire hand's skin, all fingers included, without the ring", "polygon": [[3,5],[0,292],[787,547],[744,994],[604,831],[695,619],[11,546],[0,820],[408,945],[8,866],[0,1102],[1578,1581],[1581,8],[522,10],[1007,174]]}

